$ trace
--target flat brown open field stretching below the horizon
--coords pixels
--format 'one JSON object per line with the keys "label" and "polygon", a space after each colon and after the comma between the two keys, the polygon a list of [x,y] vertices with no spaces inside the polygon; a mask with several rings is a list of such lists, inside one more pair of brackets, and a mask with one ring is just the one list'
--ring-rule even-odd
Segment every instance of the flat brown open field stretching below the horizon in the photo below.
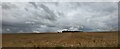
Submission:
{"label": "flat brown open field stretching below the horizon", "polygon": [[2,34],[3,47],[117,47],[117,32]]}

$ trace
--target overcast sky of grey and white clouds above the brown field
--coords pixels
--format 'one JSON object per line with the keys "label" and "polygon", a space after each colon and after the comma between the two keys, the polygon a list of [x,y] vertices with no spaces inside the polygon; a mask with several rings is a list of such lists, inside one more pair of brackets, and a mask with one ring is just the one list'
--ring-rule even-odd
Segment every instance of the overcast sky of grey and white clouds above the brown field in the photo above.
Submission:
{"label": "overcast sky of grey and white clouds above the brown field", "polygon": [[3,2],[2,32],[116,31],[117,2]]}

